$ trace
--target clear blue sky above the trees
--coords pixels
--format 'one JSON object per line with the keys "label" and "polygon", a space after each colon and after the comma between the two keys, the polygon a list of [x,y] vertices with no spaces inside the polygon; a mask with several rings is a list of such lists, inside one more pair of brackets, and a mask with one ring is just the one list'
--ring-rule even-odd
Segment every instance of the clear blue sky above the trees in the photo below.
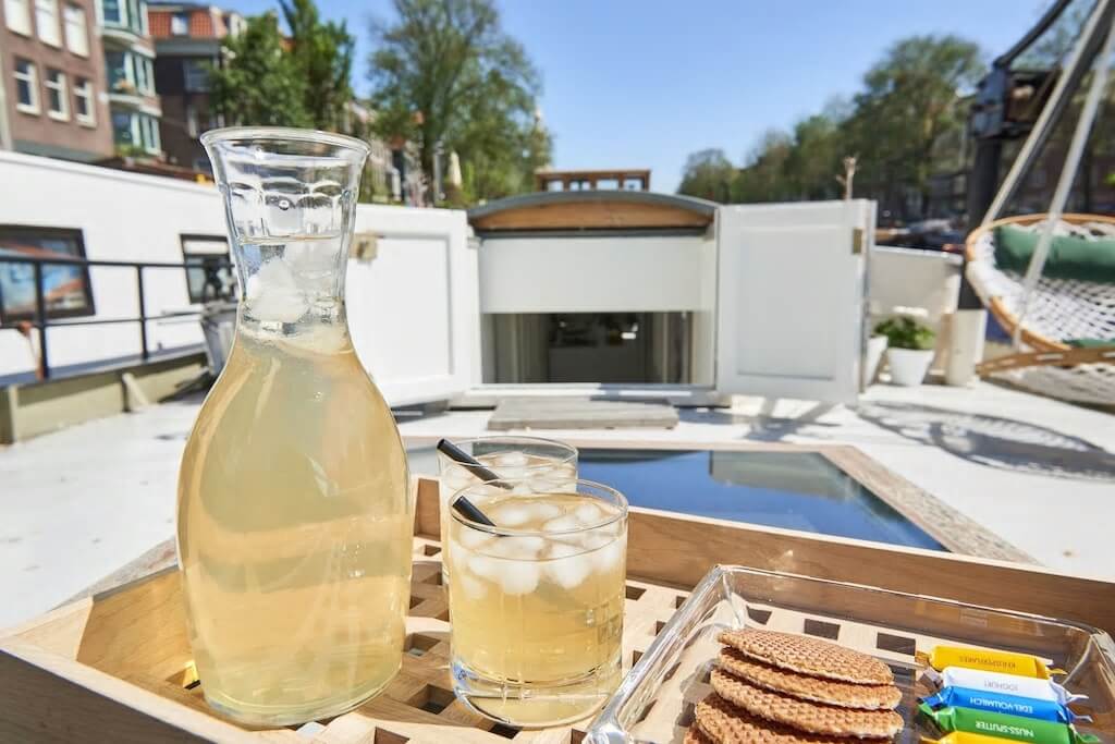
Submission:
{"label": "clear blue sky above the trees", "polygon": [[[850,96],[895,40],[957,33],[988,59],[1048,0],[497,0],[504,27],[542,71],[542,110],[560,168],[650,167],[673,191],[686,156],[721,147],[736,162],[769,127]],[[368,19],[387,0],[318,0],[358,39],[367,90]],[[255,13],[274,0],[226,0]]]}

